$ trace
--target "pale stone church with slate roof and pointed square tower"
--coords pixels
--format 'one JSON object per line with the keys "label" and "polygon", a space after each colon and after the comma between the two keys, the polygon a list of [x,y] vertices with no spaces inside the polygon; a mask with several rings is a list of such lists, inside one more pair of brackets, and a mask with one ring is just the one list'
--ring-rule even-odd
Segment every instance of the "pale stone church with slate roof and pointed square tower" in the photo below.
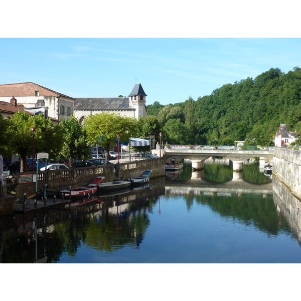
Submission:
{"label": "pale stone church with slate roof and pointed square tower", "polygon": [[126,117],[146,117],[145,94],[141,84],[135,84],[128,97],[75,98],[74,115],[83,123],[85,116],[101,112],[119,113]]}

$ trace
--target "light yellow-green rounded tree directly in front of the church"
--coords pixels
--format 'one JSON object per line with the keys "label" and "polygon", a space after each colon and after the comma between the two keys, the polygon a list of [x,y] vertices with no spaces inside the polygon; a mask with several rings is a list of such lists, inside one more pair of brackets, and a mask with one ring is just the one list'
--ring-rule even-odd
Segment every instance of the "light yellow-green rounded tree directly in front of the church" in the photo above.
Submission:
{"label": "light yellow-green rounded tree directly in front of the church", "polygon": [[84,119],[88,142],[98,143],[106,149],[107,159],[109,159],[110,146],[115,144],[117,134],[120,135],[120,141],[128,141],[135,135],[136,127],[137,121],[134,118],[116,113],[103,112]]}

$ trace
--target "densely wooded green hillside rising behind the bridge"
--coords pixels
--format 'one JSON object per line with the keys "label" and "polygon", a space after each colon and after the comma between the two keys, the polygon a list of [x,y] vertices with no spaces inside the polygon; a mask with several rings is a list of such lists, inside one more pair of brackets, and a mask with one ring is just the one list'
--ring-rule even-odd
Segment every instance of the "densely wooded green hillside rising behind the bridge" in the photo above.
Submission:
{"label": "densely wooded green hillside rising behind the bridge", "polygon": [[300,131],[300,95],[300,68],[286,74],[271,68],[255,79],[225,84],[196,101],[189,97],[168,106],[157,101],[146,109],[148,116],[158,116],[169,143],[233,145],[247,139],[249,145],[272,145],[280,123]]}

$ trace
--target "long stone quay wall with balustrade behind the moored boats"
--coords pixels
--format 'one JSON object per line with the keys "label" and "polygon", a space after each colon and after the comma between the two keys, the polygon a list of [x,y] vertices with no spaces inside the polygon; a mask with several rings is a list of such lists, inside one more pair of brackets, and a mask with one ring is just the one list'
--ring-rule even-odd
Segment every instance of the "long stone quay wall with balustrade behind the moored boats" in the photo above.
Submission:
{"label": "long stone quay wall with balustrade behind the moored boats", "polygon": [[[140,177],[145,170],[152,170],[150,178],[165,176],[165,158],[147,159],[114,165],[73,168],[67,170],[47,171],[47,191],[61,191],[65,189],[82,187],[89,184],[95,177],[105,177],[103,182],[112,182],[115,179],[127,180]],[[15,173],[13,175],[12,194],[16,199],[34,198],[36,181],[35,173]],[[38,174],[38,190],[45,188],[45,172]],[[0,213],[1,214],[1,213]]]}

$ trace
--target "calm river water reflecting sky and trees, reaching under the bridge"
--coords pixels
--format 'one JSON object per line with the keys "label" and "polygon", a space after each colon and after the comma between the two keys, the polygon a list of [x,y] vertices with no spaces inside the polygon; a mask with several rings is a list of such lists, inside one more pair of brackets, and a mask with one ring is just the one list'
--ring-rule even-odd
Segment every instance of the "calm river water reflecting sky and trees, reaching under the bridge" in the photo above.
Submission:
{"label": "calm river water reflecting sky and trees, reaching under the bridge", "polygon": [[299,201],[224,160],[95,200],[0,217],[3,263],[300,263]]}

